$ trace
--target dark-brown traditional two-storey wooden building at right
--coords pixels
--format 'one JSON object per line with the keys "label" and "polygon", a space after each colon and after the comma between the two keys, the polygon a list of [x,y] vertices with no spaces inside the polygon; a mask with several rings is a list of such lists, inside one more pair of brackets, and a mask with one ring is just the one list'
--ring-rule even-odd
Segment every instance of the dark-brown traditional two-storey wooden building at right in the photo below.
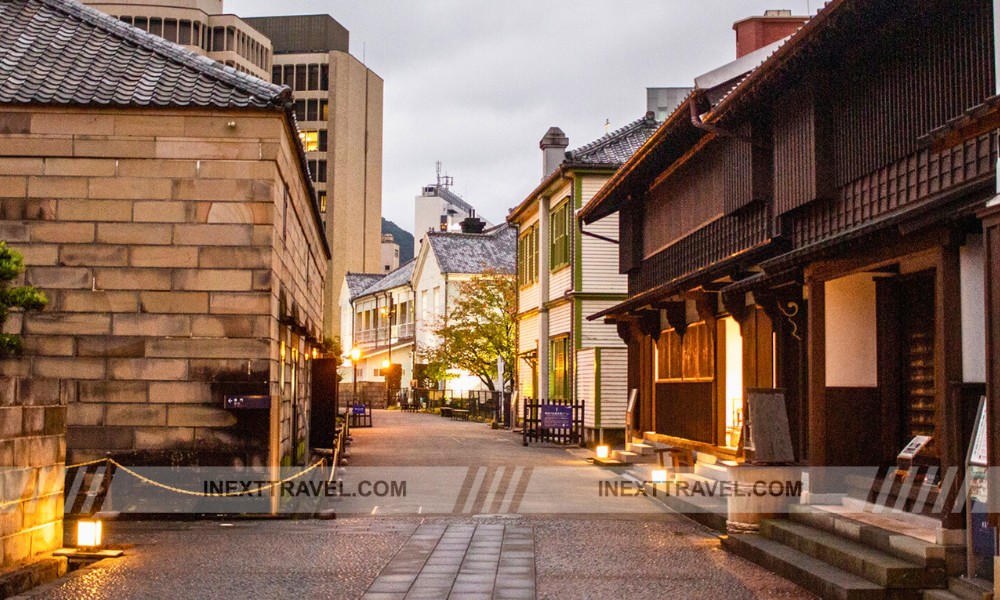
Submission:
{"label": "dark-brown traditional two-storey wooden building at right", "polygon": [[[734,85],[696,89],[581,212],[617,213],[638,422],[737,458],[748,387],[783,388],[795,456],[962,463],[985,392],[994,194],[985,0],[835,0]],[[956,122],[956,119],[965,121]]]}

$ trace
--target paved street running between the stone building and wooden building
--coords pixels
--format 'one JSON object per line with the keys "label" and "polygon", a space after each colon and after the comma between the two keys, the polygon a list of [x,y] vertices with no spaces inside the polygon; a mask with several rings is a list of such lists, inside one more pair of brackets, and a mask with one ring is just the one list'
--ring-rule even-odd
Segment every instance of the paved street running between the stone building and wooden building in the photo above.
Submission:
{"label": "paved street running between the stone building and wooden building", "polygon": [[[30,597],[810,597],[722,551],[711,531],[659,506],[592,514],[560,514],[549,506],[492,510],[504,505],[498,499],[504,487],[516,498],[515,477],[504,475],[515,466],[535,473],[579,466],[565,479],[571,485],[599,473],[585,467],[579,448],[524,448],[511,433],[423,414],[377,411],[374,421],[372,429],[354,430],[348,472],[404,466],[473,473],[456,491],[455,514],[115,522],[110,542],[131,545],[124,558],[75,572]],[[525,496],[508,507],[533,502],[530,492]]]}

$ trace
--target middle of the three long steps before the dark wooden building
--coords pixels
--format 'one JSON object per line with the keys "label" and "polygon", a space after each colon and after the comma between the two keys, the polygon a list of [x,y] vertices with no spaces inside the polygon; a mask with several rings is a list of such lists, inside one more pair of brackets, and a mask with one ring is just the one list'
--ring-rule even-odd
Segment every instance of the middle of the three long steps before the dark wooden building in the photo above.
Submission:
{"label": "middle of the three long steps before the dark wooden building", "polygon": [[944,589],[948,584],[943,565],[926,567],[787,519],[764,520],[760,534],[883,587]]}

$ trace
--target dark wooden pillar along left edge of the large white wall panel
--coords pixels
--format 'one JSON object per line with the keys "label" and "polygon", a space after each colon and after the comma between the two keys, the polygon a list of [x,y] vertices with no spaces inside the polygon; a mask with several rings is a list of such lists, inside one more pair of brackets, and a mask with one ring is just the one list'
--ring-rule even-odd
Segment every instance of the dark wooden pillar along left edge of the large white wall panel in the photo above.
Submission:
{"label": "dark wooden pillar along left edge of the large white wall panel", "polygon": [[806,279],[809,290],[809,397],[806,402],[809,440],[806,462],[826,465],[826,290],[822,280]]}

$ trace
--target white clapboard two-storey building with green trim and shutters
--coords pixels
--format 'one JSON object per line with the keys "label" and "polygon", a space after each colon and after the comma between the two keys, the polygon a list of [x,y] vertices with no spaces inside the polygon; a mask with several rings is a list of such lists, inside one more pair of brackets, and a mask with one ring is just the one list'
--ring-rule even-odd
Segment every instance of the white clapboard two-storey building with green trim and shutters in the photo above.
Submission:
{"label": "white clapboard two-storey building with green trim and shutters", "polygon": [[658,126],[652,113],[576,150],[553,127],[543,180],[507,217],[518,229],[517,389],[584,403],[588,441],[624,434],[628,356],[615,325],[587,316],[622,302],[618,216],[581,227],[586,204]]}

